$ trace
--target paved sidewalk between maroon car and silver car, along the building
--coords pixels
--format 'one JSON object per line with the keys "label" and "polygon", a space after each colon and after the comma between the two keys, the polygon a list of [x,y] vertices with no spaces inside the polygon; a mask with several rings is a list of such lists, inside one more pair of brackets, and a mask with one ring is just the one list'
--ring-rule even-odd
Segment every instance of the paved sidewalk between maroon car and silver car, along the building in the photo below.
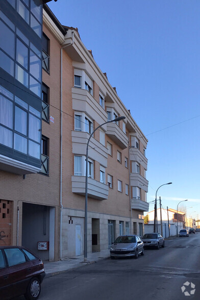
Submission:
{"label": "paved sidewalk between maroon car and silver car, along the building", "polygon": [[[88,263],[95,263],[98,260],[110,257],[110,250],[106,249],[99,252],[88,253]],[[45,278],[55,276],[59,273],[65,272],[70,269],[79,268],[87,265],[84,263],[84,255],[64,258],[62,261],[44,262],[44,270],[46,273]]]}

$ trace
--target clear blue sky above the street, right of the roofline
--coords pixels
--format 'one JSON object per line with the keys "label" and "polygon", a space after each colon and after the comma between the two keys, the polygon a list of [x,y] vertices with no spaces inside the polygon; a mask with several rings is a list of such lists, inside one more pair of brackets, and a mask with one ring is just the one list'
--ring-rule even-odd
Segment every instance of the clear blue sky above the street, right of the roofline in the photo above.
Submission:
{"label": "clear blue sky above the street, right of the roofline", "polygon": [[[79,29],[83,43],[148,138],[147,202],[155,199],[160,185],[172,182],[158,191],[163,207],[177,209],[188,199],[188,216],[196,218],[200,1],[58,0],[48,6],[63,25]],[[153,209],[151,203],[149,211]]]}

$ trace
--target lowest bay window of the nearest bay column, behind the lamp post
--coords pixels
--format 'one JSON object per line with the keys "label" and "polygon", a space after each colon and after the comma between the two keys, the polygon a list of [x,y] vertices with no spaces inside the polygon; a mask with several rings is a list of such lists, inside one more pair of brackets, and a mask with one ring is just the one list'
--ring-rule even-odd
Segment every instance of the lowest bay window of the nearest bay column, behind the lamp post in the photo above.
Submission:
{"label": "lowest bay window of the nearest bay column, behind the lamp post", "polygon": [[[93,178],[93,161],[88,159],[88,177]],[[74,176],[85,176],[86,157],[74,155]]]}

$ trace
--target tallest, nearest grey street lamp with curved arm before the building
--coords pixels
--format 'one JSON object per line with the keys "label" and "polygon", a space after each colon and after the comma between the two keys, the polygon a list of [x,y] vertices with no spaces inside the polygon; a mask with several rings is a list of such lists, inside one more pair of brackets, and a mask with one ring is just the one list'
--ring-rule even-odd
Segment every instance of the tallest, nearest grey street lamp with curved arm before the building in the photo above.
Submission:
{"label": "tallest, nearest grey street lamp with curved arm before the building", "polygon": [[90,134],[89,139],[87,141],[87,148],[86,148],[86,170],[85,170],[85,229],[84,229],[84,262],[87,262],[87,203],[88,203],[88,144],[89,141],[94,134],[94,132],[103,125],[110,123],[110,122],[117,122],[120,120],[124,120],[126,117],[118,117],[114,120],[107,121],[101,125],[99,125],[94,131]]}

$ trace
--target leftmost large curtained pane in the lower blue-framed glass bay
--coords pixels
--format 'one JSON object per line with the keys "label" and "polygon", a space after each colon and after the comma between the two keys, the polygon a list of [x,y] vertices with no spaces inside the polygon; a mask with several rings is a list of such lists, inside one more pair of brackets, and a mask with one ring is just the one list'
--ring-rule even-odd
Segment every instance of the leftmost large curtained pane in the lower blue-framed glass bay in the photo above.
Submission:
{"label": "leftmost large curtained pane in the lower blue-framed glass bay", "polygon": [[0,95],[0,123],[13,128],[13,103]]}

